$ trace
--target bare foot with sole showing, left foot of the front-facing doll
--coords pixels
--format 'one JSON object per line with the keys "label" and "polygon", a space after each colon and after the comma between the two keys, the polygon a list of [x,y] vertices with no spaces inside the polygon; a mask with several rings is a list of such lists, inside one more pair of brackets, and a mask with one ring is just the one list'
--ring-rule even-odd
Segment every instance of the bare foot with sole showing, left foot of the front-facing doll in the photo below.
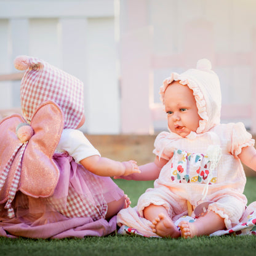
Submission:
{"label": "bare foot with sole showing, left foot of the front-facing doll", "polygon": [[170,217],[164,214],[158,214],[158,217],[152,222],[151,228],[153,232],[162,237],[178,238],[180,231],[177,226],[174,225]]}

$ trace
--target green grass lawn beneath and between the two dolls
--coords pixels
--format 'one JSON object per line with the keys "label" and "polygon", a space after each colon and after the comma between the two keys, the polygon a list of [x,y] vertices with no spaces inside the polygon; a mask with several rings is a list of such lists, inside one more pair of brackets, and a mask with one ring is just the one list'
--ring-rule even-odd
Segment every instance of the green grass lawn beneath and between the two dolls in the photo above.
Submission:
{"label": "green grass lawn beneath and between the two dolls", "polygon": [[[128,194],[132,206],[146,188],[152,187],[153,182],[134,182],[115,180]],[[256,178],[248,178],[245,194],[248,202],[256,201]],[[142,238],[140,236],[120,236],[111,234],[103,238],[87,237],[85,239],[8,239],[0,238],[0,255],[254,255],[256,236],[222,236],[200,237],[193,239],[158,239]]]}

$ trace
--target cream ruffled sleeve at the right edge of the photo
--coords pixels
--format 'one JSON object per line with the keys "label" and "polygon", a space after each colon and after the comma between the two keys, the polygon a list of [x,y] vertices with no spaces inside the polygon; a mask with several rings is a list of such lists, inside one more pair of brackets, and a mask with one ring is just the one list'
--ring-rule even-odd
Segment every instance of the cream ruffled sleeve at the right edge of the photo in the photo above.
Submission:
{"label": "cream ruffled sleeve at the right edge of the photo", "polygon": [[254,146],[254,143],[255,140],[252,138],[252,135],[247,132],[246,127],[244,127],[242,122],[233,124],[231,130],[231,154],[238,157],[242,151],[242,148],[246,146]]}

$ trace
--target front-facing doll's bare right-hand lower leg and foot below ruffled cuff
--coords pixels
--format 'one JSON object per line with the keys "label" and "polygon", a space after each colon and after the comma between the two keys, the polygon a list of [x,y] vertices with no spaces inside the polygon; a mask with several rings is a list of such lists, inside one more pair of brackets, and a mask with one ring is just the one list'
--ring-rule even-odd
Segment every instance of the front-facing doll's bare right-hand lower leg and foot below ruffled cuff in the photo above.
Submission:
{"label": "front-facing doll's bare right-hand lower leg and foot below ruffled cuff", "polygon": [[215,212],[207,212],[203,217],[199,217],[196,222],[180,222],[178,224],[183,238],[193,238],[214,233],[225,228],[224,218]]}

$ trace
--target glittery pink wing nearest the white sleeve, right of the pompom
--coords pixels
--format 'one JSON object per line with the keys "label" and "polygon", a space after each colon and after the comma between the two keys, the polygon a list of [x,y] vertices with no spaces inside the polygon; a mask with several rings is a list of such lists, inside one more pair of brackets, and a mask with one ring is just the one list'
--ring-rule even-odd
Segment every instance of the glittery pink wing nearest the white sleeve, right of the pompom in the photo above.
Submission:
{"label": "glittery pink wing nearest the white sleeve, right of the pompom", "polygon": [[63,130],[62,110],[54,102],[42,103],[31,119],[34,135],[22,159],[20,191],[33,197],[54,193],[59,170],[52,159]]}

